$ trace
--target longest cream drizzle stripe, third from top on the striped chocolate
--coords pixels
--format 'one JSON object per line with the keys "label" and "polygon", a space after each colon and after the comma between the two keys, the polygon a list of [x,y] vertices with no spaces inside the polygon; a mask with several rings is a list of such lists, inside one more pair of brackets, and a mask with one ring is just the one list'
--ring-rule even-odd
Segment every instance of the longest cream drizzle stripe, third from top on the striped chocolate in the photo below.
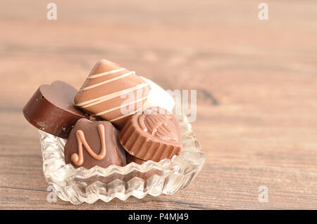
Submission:
{"label": "longest cream drizzle stripe, third from top on the striped chocolate", "polygon": [[98,98],[94,98],[94,99],[92,99],[92,100],[87,100],[87,101],[82,102],[82,103],[77,103],[76,106],[77,106],[77,107],[83,107],[83,108],[85,108],[85,107],[91,107],[91,106],[93,106],[93,105],[102,103],[102,102],[104,102],[104,101],[106,101],[106,100],[111,100],[111,99],[116,98],[116,97],[118,97],[118,96],[120,96],[120,95],[123,95],[123,94],[126,94],[126,93],[130,93],[130,92],[132,92],[132,91],[135,91],[135,90],[137,90],[137,89],[139,89],[139,88],[144,88],[144,87],[146,87],[146,86],[149,86],[149,84],[139,84],[139,85],[137,85],[137,86],[133,86],[133,87],[130,87],[130,88],[125,88],[125,89],[123,89],[122,91],[117,91],[117,92],[115,92],[115,93],[110,93],[110,94],[107,94],[107,95],[102,95],[102,96],[100,96],[100,97],[98,97]]}

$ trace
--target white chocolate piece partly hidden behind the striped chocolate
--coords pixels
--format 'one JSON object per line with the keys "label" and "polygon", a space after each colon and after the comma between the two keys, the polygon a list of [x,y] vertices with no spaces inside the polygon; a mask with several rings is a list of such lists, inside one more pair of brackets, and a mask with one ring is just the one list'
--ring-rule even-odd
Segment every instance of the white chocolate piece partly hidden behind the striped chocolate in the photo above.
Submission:
{"label": "white chocolate piece partly hidden behind the striped chocolate", "polygon": [[143,110],[147,110],[149,107],[162,107],[165,110],[168,110],[168,112],[172,112],[175,106],[173,97],[161,86],[154,83],[154,81],[144,77],[141,78],[151,87],[151,91],[149,91],[149,95],[147,95],[147,100],[143,103]]}

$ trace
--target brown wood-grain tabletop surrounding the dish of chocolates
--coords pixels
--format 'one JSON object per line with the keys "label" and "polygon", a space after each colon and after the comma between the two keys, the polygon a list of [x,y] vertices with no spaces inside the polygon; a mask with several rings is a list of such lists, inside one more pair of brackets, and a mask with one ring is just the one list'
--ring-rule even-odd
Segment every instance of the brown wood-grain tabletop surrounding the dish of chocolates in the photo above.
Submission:
{"label": "brown wood-grain tabletop surrounding the dish of chocolates", "polygon": [[[0,209],[317,209],[317,2],[6,1],[0,7]],[[22,108],[40,84],[79,88],[97,60],[166,89],[197,90],[206,153],[174,195],[46,202],[37,130]],[[259,186],[268,202],[259,202]]]}

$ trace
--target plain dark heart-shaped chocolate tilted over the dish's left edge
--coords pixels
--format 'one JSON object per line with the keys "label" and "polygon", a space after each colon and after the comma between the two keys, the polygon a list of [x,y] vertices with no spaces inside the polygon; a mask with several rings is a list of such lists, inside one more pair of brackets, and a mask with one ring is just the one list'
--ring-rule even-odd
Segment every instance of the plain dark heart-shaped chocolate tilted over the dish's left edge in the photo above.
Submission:
{"label": "plain dark heart-shaped chocolate tilted over the dish's left edge", "polygon": [[76,121],[87,117],[74,103],[77,90],[63,81],[39,86],[23,108],[27,121],[37,129],[60,138],[68,138]]}

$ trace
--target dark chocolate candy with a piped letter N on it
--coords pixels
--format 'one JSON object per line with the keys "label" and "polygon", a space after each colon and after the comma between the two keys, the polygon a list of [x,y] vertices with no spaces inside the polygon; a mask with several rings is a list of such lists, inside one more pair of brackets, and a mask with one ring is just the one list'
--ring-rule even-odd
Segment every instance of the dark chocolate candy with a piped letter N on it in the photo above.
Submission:
{"label": "dark chocolate candy with a piped letter N on it", "polygon": [[75,168],[106,168],[111,164],[125,166],[125,151],[118,131],[109,121],[80,119],[70,131],[64,147],[65,162]]}

